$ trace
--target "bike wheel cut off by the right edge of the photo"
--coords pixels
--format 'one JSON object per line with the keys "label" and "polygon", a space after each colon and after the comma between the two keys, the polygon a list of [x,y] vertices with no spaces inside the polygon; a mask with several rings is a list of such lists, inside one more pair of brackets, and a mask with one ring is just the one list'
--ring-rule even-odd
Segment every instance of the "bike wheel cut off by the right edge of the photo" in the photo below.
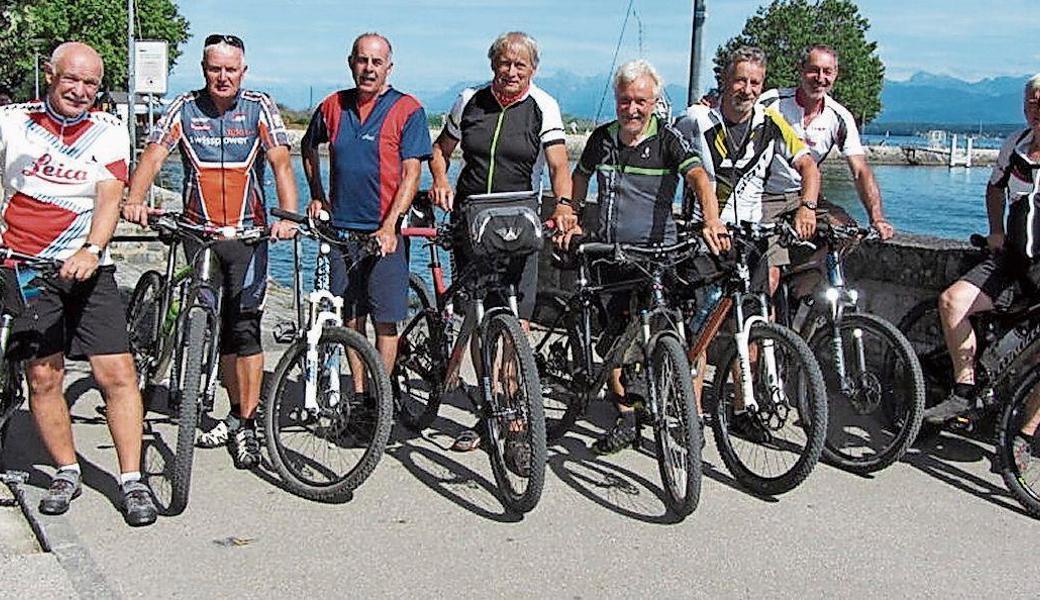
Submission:
{"label": "bike wheel cut off by the right edge of the photo", "polygon": [[1038,411],[1040,366],[1034,366],[1019,380],[1011,401],[1004,408],[996,452],[1008,490],[1031,515],[1040,518],[1040,432],[1034,431],[1030,437],[1022,434]]}

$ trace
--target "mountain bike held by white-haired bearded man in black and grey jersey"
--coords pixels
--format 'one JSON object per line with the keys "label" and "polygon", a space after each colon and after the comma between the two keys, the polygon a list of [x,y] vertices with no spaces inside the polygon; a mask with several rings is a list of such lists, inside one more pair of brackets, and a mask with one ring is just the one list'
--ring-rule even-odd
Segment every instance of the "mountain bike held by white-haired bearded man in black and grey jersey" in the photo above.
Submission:
{"label": "mountain bike held by white-haired bearded man in black and grey jersey", "polygon": [[[570,294],[540,292],[532,319],[535,356],[546,386],[543,401],[546,414],[552,415],[546,419],[549,439],[566,434],[592,399],[604,397],[612,373],[622,369],[626,395],[645,398],[636,447],[642,427],[650,425],[668,507],[679,517],[693,513],[700,502],[703,432],[683,349],[682,315],[666,298],[666,288],[674,282],[675,265],[699,249],[694,239],[649,246],[579,242],[576,289]],[[634,277],[592,284],[592,270],[604,262],[625,265]],[[636,292],[630,317],[621,328],[608,328],[601,298],[623,291]],[[594,338],[596,330],[610,329],[620,330],[620,335]]]}

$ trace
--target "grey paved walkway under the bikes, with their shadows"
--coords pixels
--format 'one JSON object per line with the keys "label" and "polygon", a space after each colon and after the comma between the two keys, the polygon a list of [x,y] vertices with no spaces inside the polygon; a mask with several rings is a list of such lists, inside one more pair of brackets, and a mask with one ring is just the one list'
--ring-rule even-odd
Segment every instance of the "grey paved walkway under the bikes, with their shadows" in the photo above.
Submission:
{"label": "grey paved walkway under the bikes, with their shadows", "polygon": [[[648,452],[587,450],[608,422],[598,411],[551,448],[542,502],[520,519],[493,494],[486,454],[446,449],[471,424],[448,407],[422,437],[395,432],[348,502],[302,500],[269,471],[238,471],[225,450],[200,450],[187,511],[131,529],[115,507],[100,395],[82,368],[68,397],[84,493],[64,516],[34,515],[51,553],[16,510],[0,508],[0,597],[1040,595],[1040,522],[991,472],[992,448],[971,440],[944,436],[875,477],[820,466],[775,499],[735,487],[709,441],[701,505],[672,523]],[[14,426],[8,459],[29,472],[34,513],[52,469],[28,415]]]}

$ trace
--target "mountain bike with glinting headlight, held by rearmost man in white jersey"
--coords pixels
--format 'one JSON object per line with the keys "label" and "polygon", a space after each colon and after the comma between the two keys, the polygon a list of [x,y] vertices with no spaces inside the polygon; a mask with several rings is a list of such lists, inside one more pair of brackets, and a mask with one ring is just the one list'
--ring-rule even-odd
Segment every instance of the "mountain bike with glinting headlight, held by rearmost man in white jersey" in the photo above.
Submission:
{"label": "mountain bike with glinting headlight, held by rearmost man in white jersey", "polygon": [[[790,226],[781,221],[780,227]],[[776,320],[809,343],[824,373],[828,428],[823,458],[848,471],[869,473],[898,461],[916,439],[925,377],[906,336],[887,320],[861,312],[859,292],[846,281],[844,257],[861,242],[880,239],[878,231],[820,223],[816,232],[827,253],[781,267]],[[822,268],[826,289],[795,297],[796,282]]]}

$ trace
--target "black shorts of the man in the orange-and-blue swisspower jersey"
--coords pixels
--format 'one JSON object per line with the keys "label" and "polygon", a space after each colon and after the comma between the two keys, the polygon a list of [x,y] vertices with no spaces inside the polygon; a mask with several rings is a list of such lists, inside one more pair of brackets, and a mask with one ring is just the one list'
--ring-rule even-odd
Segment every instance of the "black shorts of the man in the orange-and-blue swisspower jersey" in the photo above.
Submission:
{"label": "black shorts of the man in the orange-and-blue swisspower jersey", "polygon": [[[185,242],[189,262],[198,251],[199,244]],[[263,351],[260,318],[267,293],[267,244],[223,240],[213,244],[213,258],[218,266],[213,271],[213,285],[224,290],[220,354],[258,355]]]}

